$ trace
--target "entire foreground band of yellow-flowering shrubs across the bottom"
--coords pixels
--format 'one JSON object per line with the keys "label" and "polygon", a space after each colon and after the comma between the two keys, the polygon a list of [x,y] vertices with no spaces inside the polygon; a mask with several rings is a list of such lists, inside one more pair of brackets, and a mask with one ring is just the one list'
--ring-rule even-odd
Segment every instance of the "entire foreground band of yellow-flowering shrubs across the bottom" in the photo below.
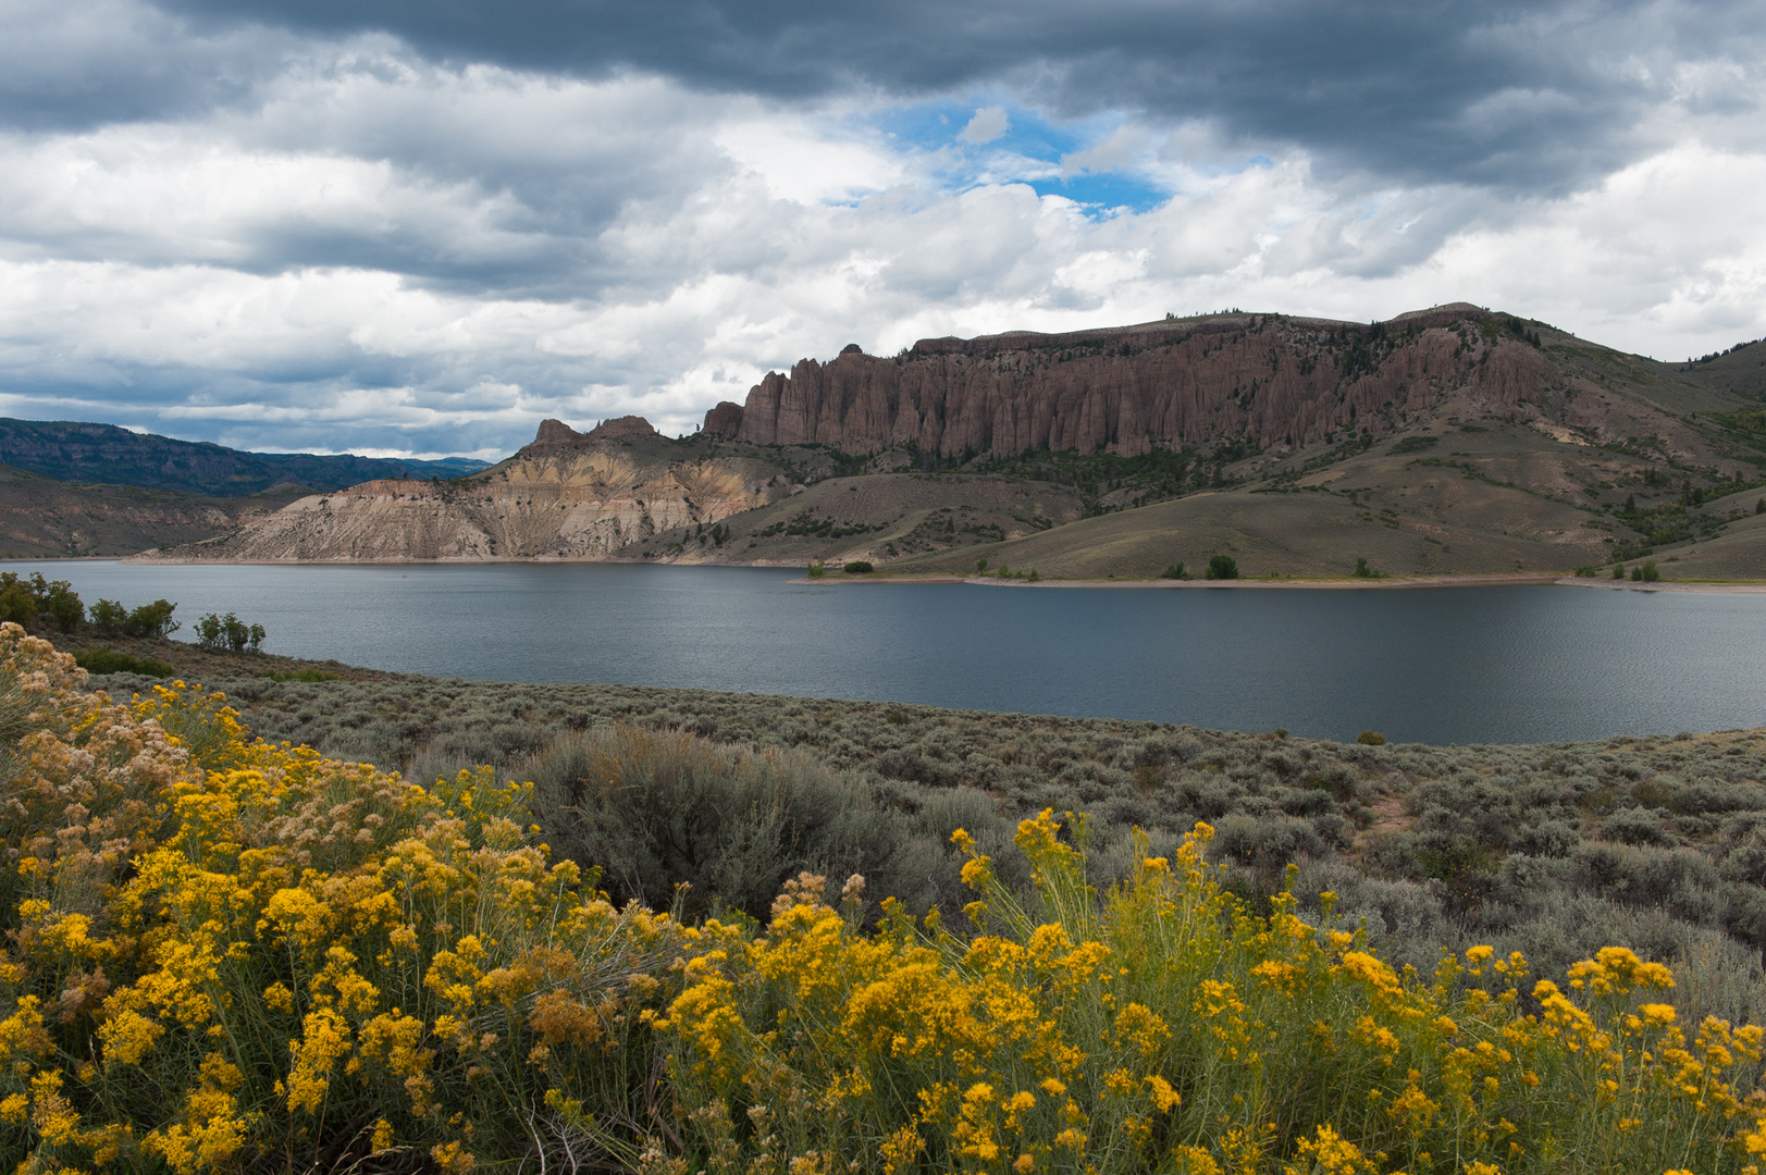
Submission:
{"label": "entire foreground band of yellow-flowering shrubs across the bottom", "polygon": [[[646,1175],[1752,1171],[1762,1032],[1614,947],[1556,981],[1473,947],[1395,972],[1206,825],[1088,885],[966,836],[962,926],[865,883],[765,924],[615,908],[528,788],[434,788],[132,705],[0,629],[0,1148],[51,1170]],[[636,740],[630,754],[655,753]],[[592,876],[592,875],[590,875]],[[828,901],[835,905],[828,905]]]}

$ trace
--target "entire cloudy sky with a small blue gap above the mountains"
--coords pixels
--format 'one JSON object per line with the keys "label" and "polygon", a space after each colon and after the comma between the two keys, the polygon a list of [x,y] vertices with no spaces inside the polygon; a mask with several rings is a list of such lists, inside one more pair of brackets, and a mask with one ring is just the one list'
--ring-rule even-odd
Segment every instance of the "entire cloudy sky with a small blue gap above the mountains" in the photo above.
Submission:
{"label": "entire cloudy sky with a small blue gap above the mountains", "polygon": [[0,415],[496,459],[844,345],[1766,336],[1766,5],[0,0]]}

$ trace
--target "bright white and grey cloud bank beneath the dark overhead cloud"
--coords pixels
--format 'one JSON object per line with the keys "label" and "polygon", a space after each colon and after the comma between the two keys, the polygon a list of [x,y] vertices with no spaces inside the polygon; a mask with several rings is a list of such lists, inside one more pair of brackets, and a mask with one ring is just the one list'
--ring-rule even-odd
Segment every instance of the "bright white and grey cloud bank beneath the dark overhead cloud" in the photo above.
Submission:
{"label": "bright white and grey cloud bank beneath the dark overhead cloud", "polygon": [[39,41],[124,62],[132,35],[249,78],[228,101],[0,133],[5,415],[500,456],[547,415],[689,431],[849,341],[1459,299],[1667,359],[1766,334],[1747,71],[1687,67],[1639,125],[1649,150],[1515,196],[1321,168],[1210,120],[962,104],[936,124],[862,90],[782,102],[442,65],[385,35],[194,39],[104,4],[134,23],[42,16]]}

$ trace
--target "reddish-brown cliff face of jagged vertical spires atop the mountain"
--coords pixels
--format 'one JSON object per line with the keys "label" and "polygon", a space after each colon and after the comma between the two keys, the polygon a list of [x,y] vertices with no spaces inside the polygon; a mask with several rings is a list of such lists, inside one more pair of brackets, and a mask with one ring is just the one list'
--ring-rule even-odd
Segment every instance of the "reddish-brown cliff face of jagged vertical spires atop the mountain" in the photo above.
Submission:
{"label": "reddish-brown cliff face of jagged vertical spires atop the mountain", "polygon": [[1469,304],[1372,327],[1275,315],[922,339],[892,359],[849,346],[770,373],[705,429],[763,445],[940,456],[1136,456],[1243,436],[1309,445],[1351,422],[1400,428],[1448,398],[1499,415],[1561,415],[1575,389],[1540,348]]}

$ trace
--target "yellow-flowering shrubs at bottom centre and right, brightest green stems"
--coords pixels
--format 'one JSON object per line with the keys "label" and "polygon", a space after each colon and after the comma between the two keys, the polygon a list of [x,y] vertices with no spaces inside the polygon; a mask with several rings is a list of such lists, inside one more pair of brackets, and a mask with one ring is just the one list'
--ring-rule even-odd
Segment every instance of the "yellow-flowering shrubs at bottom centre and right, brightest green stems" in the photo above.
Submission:
{"label": "yellow-flowering shrubs at bottom centre and right, brightest green stems", "polygon": [[[1045,811],[1017,836],[1030,901],[954,838],[973,933],[888,901],[865,931],[807,898],[765,933],[726,929],[657,1020],[676,1095],[719,1124],[789,1106],[768,1154],[887,1175],[1660,1175],[1766,1154],[1761,1028],[1706,1020],[1688,1042],[1667,968],[1605,949],[1566,977],[1584,1002],[1489,947],[1395,972],[1291,894],[1254,913],[1206,864],[1210,836],[1100,894],[1083,822]],[[756,1159],[699,1124],[696,1161]]]}

